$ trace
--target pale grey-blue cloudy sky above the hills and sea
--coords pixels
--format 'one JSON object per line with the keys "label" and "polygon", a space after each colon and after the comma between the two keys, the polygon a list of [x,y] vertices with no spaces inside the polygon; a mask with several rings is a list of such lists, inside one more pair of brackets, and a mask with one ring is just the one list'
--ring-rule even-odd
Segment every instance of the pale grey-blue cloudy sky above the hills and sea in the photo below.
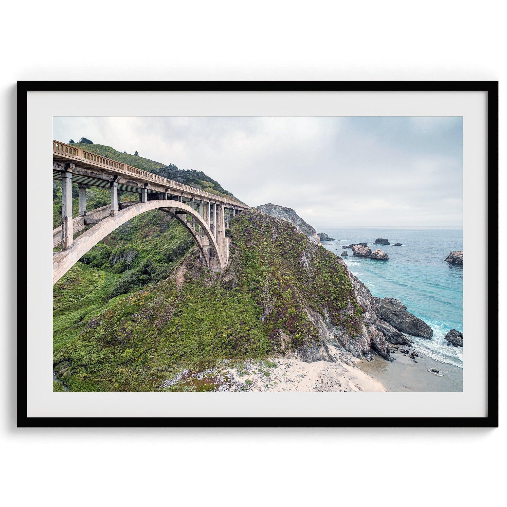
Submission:
{"label": "pale grey-blue cloudy sky above the hills and sea", "polygon": [[87,137],[204,171],[314,227],[461,227],[461,117],[59,117]]}

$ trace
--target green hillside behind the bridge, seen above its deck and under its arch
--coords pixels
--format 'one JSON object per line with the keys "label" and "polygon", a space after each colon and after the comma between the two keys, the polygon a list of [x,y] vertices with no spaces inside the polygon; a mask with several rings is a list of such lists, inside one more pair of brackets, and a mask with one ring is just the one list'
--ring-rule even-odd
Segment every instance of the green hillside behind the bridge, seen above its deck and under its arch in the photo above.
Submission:
{"label": "green hillside behind the bridge, seen above its deck and under its arch", "polygon": [[[86,144],[85,148],[144,170],[166,167],[100,144]],[[196,182],[193,178],[197,171],[182,171],[175,166],[168,170],[172,171],[171,175],[179,175],[180,180],[186,178],[186,184],[214,193],[220,193],[218,189],[222,189],[204,173],[199,173],[200,179]],[[78,185],[73,184],[72,193],[73,216],[78,216]],[[86,197],[88,211],[110,204],[107,189],[87,188]],[[137,194],[121,192],[119,199],[137,199]],[[53,228],[59,225],[61,185],[53,181]],[[160,210],[138,215],[106,236],[53,287],[54,349],[58,350],[68,340],[76,338],[90,319],[102,312],[115,298],[165,279],[180,259],[193,248],[196,248],[194,240],[185,227]]]}

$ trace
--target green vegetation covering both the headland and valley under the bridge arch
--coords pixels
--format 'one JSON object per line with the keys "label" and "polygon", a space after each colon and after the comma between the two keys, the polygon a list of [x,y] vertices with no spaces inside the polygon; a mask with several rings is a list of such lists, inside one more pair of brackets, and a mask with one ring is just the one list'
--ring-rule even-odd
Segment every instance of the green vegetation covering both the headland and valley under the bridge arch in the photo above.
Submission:
{"label": "green vegetation covering both the headland and valley under the bridge arch", "polygon": [[[53,362],[69,390],[166,390],[183,370],[283,356],[319,341],[313,312],[352,337],[360,332],[363,310],[341,261],[291,224],[241,213],[227,230],[229,265],[215,273],[194,246],[177,259],[186,248],[179,224],[160,215],[164,232],[155,219],[155,234],[119,229],[55,284]],[[138,254],[116,272],[111,260],[127,247]],[[147,252],[164,247],[150,277]]]}

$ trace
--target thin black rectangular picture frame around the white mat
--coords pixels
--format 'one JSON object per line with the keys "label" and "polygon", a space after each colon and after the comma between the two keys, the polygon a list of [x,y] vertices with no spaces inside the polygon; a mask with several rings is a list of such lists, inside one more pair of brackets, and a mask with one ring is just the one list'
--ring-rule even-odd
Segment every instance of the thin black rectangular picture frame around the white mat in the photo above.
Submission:
{"label": "thin black rectangular picture frame around the white mat", "polygon": [[[27,94],[30,91],[484,91],[487,100],[487,235],[498,242],[498,81],[18,81],[18,175],[25,175]],[[24,187],[18,186],[18,219],[27,220]],[[25,257],[26,256],[26,257]],[[18,286],[27,286],[26,235],[18,235]],[[18,427],[498,427],[498,261],[487,262],[486,417],[28,417],[27,315],[18,290]]]}

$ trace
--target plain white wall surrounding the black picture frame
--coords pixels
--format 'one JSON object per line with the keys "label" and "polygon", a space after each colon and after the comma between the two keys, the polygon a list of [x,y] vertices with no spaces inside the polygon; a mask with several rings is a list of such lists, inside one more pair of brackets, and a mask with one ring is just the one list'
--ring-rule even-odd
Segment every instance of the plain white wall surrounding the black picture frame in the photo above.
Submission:
{"label": "plain white wall surrounding the black picture frame", "polygon": [[[18,79],[498,79],[503,119],[499,9],[441,0],[8,3],[0,32],[2,227],[14,237]],[[500,168],[503,154],[501,145]],[[498,252],[506,247],[503,206],[500,231]],[[504,428],[16,429],[16,251],[12,241],[3,246],[0,477],[8,505],[490,504],[503,486]],[[504,387],[501,371],[500,394]],[[500,425],[504,414],[500,403]]]}

